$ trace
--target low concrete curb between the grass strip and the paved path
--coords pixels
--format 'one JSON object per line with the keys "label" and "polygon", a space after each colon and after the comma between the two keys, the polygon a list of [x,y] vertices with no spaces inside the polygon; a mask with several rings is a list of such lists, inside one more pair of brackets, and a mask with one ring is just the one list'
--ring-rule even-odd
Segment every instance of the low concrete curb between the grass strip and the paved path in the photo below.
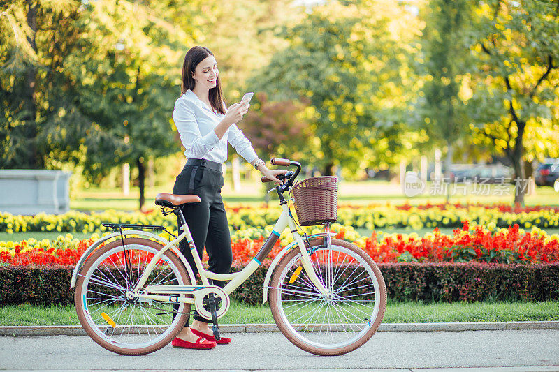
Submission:
{"label": "low concrete curb between the grass strip and the paved path", "polygon": [[[275,324],[220,325],[224,333],[279,332]],[[506,329],[559,329],[559,321],[549,322],[470,322],[470,323],[384,323],[379,332],[463,332]],[[85,336],[80,325],[0,327],[0,336]]]}

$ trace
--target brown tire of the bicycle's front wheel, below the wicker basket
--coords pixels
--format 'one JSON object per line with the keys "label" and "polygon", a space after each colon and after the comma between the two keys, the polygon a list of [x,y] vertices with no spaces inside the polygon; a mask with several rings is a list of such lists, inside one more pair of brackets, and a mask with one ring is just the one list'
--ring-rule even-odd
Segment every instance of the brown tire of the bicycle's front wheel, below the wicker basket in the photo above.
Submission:
{"label": "brown tire of the bicycle's front wheel, below the wicker basket", "polygon": [[[313,244],[312,242],[311,245],[314,246],[316,244]],[[324,355],[324,356],[342,355],[342,354],[346,354],[347,352],[356,350],[357,348],[360,348],[364,343],[370,340],[370,338],[372,337],[373,334],[375,334],[375,332],[377,332],[377,329],[379,328],[379,325],[382,322],[382,318],[384,317],[384,312],[386,311],[386,284],[384,283],[384,278],[382,277],[382,274],[379,268],[377,267],[377,264],[375,264],[375,261],[373,261],[372,258],[370,258],[370,256],[367,253],[365,253],[361,248],[358,248],[358,246],[355,246],[354,244],[350,244],[347,241],[340,240],[340,239],[332,239],[331,245],[342,246],[344,248],[349,249],[350,251],[353,251],[354,253],[357,253],[361,258],[363,258],[368,263],[368,265],[370,265],[372,271],[375,273],[377,282],[379,283],[379,290],[380,290],[380,294],[378,296],[378,300],[380,302],[379,313],[377,314],[377,318],[373,322],[373,325],[372,327],[370,327],[368,332],[366,332],[361,338],[358,338],[358,340],[354,341],[354,343],[351,343],[347,346],[341,348],[335,348],[335,349],[324,349],[324,348],[315,347],[313,345],[309,345],[308,343],[305,343],[304,341],[300,340],[300,338],[298,338],[295,334],[293,334],[293,332],[291,332],[288,325],[284,323],[284,320],[280,315],[278,302],[277,302],[277,296],[279,295],[279,290],[277,288],[279,288],[279,280],[280,277],[282,276],[281,275],[282,271],[284,271],[286,265],[288,265],[289,262],[296,255],[298,255],[298,253],[300,253],[298,248],[293,248],[289,253],[287,253],[284,256],[284,258],[282,258],[282,260],[279,261],[279,264],[277,265],[277,268],[275,269],[274,274],[272,276],[272,281],[270,284],[271,286],[270,295],[269,295],[270,308],[272,310],[272,315],[276,322],[277,327],[279,328],[279,331],[282,332],[282,334],[286,336],[286,338],[291,343],[293,343],[293,345],[296,345],[298,348],[305,350],[306,352],[310,352],[314,355]]]}

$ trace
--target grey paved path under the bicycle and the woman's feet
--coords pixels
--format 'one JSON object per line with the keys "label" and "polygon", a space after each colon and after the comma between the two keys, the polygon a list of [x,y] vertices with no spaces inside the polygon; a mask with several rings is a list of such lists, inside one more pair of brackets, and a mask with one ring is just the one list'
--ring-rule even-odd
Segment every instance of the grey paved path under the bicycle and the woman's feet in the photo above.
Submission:
{"label": "grey paved path under the bicycle and the woman's feet", "polygon": [[[559,330],[378,332],[363,347],[340,357],[318,357],[279,333],[231,334],[231,345],[212,350],[166,346],[141,357],[104,350],[86,336],[0,337],[6,370],[213,370],[368,371],[457,367],[525,367],[501,371],[559,371]],[[426,371],[426,370],[421,370]],[[475,371],[468,369],[467,371]]]}

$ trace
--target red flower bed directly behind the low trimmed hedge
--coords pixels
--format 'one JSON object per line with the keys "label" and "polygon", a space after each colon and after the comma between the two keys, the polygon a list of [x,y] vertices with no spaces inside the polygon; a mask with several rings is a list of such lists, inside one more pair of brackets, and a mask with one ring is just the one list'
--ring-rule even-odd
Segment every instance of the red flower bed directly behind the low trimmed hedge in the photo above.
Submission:
{"label": "red flower bed directly behind the low trimmed hedge", "polygon": [[[345,231],[335,236],[344,239]],[[260,239],[231,241],[235,265],[246,264],[256,255],[264,243]],[[0,262],[10,265],[75,265],[82,253],[93,243],[92,239],[79,241],[71,248],[29,248],[27,241],[15,244],[12,251],[1,251]],[[453,235],[444,235],[438,228],[424,237],[389,235],[381,241],[377,232],[354,242],[361,246],[375,262],[498,262],[498,263],[549,263],[559,262],[559,240],[544,235],[525,232],[518,225],[507,230],[490,232],[481,226],[470,230],[463,221],[462,229],[454,229]],[[282,246],[277,241],[273,258]],[[205,257],[207,260],[207,256]]]}

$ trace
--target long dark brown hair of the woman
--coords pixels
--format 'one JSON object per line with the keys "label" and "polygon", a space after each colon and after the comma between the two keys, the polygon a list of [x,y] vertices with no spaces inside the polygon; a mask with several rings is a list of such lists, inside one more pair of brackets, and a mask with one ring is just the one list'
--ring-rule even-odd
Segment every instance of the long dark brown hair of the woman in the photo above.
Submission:
{"label": "long dark brown hair of the woman", "polygon": [[[196,84],[196,82],[194,78],[192,78],[192,74],[194,74],[196,66],[212,55],[214,54],[207,47],[196,46],[188,50],[187,55],[184,56],[184,63],[182,64],[182,82],[180,83],[180,91],[182,93],[185,93],[189,89],[194,89],[194,84]],[[219,82],[219,75],[217,75],[215,87],[210,88],[209,96],[212,109],[220,114],[225,114],[222,84]]]}

